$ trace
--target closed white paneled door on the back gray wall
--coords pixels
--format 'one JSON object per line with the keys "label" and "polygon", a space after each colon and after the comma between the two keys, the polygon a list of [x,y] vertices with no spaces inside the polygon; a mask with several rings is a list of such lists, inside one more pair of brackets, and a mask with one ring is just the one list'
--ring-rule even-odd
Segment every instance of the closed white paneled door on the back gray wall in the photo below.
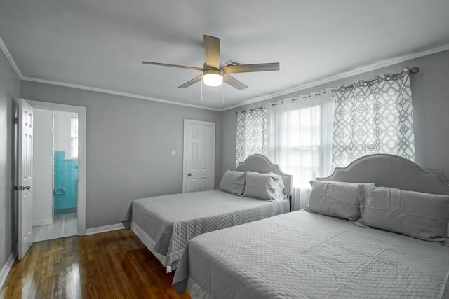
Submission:
{"label": "closed white paneled door on the back gray wall", "polygon": [[184,120],[182,192],[213,190],[215,174],[215,123]]}

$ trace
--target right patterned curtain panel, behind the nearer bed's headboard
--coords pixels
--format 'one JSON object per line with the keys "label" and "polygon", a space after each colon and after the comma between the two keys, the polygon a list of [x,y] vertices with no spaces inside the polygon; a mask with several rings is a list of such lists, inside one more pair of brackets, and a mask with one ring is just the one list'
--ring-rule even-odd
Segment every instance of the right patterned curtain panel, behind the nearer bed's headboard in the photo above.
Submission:
{"label": "right patterned curtain panel, behind the nearer bed's headboard", "polygon": [[408,69],[341,87],[335,96],[333,167],[372,153],[415,160]]}

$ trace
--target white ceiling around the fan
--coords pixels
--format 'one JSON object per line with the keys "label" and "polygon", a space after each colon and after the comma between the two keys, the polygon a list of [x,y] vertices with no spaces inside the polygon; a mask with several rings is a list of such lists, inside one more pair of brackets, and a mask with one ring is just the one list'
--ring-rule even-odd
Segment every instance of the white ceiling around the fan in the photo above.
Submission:
{"label": "white ceiling around the fan", "polygon": [[[449,44],[447,0],[0,0],[0,36],[25,80],[123,92],[212,109]],[[178,85],[202,67],[203,34],[221,62],[280,62],[234,74],[238,91]]]}

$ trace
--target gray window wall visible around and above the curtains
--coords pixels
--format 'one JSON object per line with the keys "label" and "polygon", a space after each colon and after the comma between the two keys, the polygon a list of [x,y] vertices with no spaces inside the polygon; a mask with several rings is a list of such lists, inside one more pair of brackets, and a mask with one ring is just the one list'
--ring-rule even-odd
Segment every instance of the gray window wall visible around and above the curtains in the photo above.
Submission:
{"label": "gray window wall visible around and above the curtains", "polygon": [[309,95],[322,88],[347,85],[361,79],[370,80],[377,75],[396,73],[404,67],[420,68],[418,74],[411,76],[416,162],[424,169],[443,172],[449,178],[449,50],[294,92],[290,95],[223,111],[222,174],[226,169],[235,167],[236,110],[260,106],[288,97],[297,97],[300,94]]}

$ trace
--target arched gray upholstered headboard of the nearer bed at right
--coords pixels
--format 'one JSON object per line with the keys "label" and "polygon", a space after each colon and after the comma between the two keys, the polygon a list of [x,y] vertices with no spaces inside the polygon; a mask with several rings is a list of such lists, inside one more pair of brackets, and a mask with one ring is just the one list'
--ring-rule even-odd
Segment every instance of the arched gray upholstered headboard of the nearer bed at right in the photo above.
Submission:
{"label": "arched gray upholstered headboard of the nearer bed at right", "polygon": [[335,168],[333,174],[320,181],[375,183],[376,186],[449,195],[449,181],[439,172],[427,172],[398,155],[366,155],[347,167]]}

